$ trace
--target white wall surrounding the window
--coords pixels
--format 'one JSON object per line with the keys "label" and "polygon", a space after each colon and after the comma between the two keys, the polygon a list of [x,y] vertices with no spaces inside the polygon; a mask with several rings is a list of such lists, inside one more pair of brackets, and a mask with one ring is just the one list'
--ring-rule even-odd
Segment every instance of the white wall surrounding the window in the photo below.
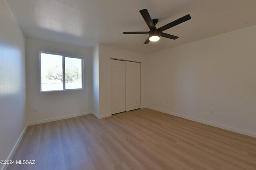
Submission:
{"label": "white wall surrounding the window", "polygon": [[[84,90],[40,92],[39,51],[84,57]],[[51,41],[26,38],[27,113],[28,121],[42,121],[92,110],[91,49]],[[37,112],[33,112],[33,107]]]}

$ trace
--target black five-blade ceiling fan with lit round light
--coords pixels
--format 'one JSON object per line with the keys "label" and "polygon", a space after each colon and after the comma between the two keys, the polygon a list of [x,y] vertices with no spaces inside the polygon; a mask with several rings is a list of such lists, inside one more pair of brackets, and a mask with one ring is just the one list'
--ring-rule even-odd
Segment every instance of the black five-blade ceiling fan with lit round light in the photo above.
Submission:
{"label": "black five-blade ceiling fan with lit round light", "polygon": [[171,27],[174,27],[182,22],[185,22],[187,20],[191,19],[191,16],[188,14],[182,18],[179,18],[178,20],[172,21],[158,29],[156,29],[156,24],[158,23],[158,19],[151,19],[148,10],[140,10],[140,14],[142,15],[143,19],[146,21],[146,24],[148,25],[150,31],[140,31],[140,32],[123,32],[124,34],[149,34],[149,37],[146,39],[144,44],[148,44],[149,41],[158,41],[160,37],[166,37],[170,39],[177,39],[178,37],[175,35],[170,35],[167,33],[163,33],[162,31],[169,29]]}

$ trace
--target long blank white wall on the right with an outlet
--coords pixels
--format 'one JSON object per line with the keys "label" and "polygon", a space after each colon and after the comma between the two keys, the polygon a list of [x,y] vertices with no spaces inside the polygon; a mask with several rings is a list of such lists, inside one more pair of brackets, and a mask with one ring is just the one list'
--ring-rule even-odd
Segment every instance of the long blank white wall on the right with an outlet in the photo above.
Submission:
{"label": "long blank white wall on the right with an outlet", "polygon": [[255,45],[256,25],[148,55],[147,106],[256,137]]}

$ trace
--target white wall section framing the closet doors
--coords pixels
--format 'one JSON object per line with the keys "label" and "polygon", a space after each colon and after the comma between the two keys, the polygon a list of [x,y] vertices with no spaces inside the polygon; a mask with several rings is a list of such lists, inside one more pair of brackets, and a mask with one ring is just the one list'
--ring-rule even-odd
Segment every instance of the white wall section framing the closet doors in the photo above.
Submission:
{"label": "white wall section framing the closet doors", "polygon": [[145,106],[146,56],[99,45],[99,109],[100,118],[111,115],[111,62],[110,58],[141,62],[141,106]]}

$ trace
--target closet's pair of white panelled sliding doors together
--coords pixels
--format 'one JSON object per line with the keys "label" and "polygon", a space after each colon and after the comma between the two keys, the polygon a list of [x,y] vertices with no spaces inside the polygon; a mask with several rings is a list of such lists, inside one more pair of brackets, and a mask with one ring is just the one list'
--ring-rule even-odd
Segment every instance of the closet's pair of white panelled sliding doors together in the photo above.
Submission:
{"label": "closet's pair of white panelled sliding doors together", "polygon": [[111,114],[140,108],[140,63],[111,59]]}

